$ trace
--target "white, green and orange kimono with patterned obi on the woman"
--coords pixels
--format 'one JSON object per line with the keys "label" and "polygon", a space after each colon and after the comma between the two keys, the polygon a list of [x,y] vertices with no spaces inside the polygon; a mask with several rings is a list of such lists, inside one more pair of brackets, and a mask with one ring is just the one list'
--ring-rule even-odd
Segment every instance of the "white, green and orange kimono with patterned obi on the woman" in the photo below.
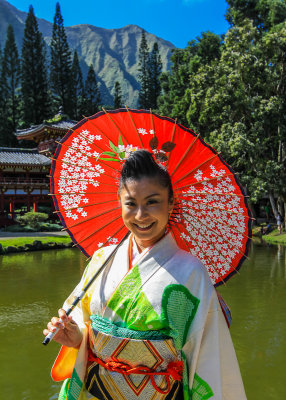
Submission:
{"label": "white, green and orange kimono with patterned obi on the woman", "polygon": [[[53,379],[66,379],[59,399],[245,400],[229,329],[204,266],[168,233],[129,269],[129,240],[72,313],[84,339],[79,349],[63,346],[54,364]],[[64,308],[113,249],[94,254]],[[118,372],[114,362],[122,360],[133,363],[135,374]]]}

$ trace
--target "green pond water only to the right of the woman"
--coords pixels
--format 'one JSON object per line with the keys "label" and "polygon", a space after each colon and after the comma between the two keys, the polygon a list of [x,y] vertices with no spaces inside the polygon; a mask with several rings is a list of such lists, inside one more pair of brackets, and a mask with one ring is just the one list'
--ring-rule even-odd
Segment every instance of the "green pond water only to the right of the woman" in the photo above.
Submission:
{"label": "green pond water only to the right of the woman", "polygon": [[284,246],[252,246],[239,276],[220,289],[234,316],[231,334],[248,399],[284,399],[286,269]]}

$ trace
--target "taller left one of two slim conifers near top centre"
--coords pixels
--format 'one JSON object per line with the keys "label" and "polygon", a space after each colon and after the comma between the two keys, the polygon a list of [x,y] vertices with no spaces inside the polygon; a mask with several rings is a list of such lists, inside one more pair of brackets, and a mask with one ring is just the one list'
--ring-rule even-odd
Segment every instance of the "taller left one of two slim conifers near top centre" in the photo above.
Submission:
{"label": "taller left one of two slim conifers near top centre", "polygon": [[146,40],[145,31],[142,30],[141,42],[139,47],[139,107],[148,109],[150,108],[149,102],[149,76],[148,76],[148,60],[149,60],[149,49]]}

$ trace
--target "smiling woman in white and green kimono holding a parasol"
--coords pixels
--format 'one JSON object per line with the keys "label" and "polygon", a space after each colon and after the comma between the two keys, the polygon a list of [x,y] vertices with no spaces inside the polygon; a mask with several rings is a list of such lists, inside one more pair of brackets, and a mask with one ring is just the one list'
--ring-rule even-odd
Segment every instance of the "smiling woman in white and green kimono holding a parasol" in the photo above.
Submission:
{"label": "smiling woman in white and green kimono holding a parasol", "polygon": [[208,273],[168,232],[168,172],[148,151],[135,151],[123,165],[119,196],[130,237],[67,317],[64,309],[114,247],[94,254],[59,310],[62,322],[54,317],[44,331],[60,328],[54,339],[64,346],[52,376],[72,373],[60,398],[246,399]]}

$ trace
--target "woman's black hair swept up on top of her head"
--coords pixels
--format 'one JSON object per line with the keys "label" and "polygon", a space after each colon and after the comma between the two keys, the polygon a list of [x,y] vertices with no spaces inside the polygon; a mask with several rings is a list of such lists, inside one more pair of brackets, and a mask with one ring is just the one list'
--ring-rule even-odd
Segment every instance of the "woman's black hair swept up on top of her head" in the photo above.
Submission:
{"label": "woman's black hair swept up on top of her head", "polygon": [[128,180],[137,181],[142,178],[157,179],[162,187],[168,188],[169,201],[173,201],[173,186],[167,169],[163,165],[157,164],[149,151],[136,150],[130,154],[123,164],[119,181],[119,194]]}

